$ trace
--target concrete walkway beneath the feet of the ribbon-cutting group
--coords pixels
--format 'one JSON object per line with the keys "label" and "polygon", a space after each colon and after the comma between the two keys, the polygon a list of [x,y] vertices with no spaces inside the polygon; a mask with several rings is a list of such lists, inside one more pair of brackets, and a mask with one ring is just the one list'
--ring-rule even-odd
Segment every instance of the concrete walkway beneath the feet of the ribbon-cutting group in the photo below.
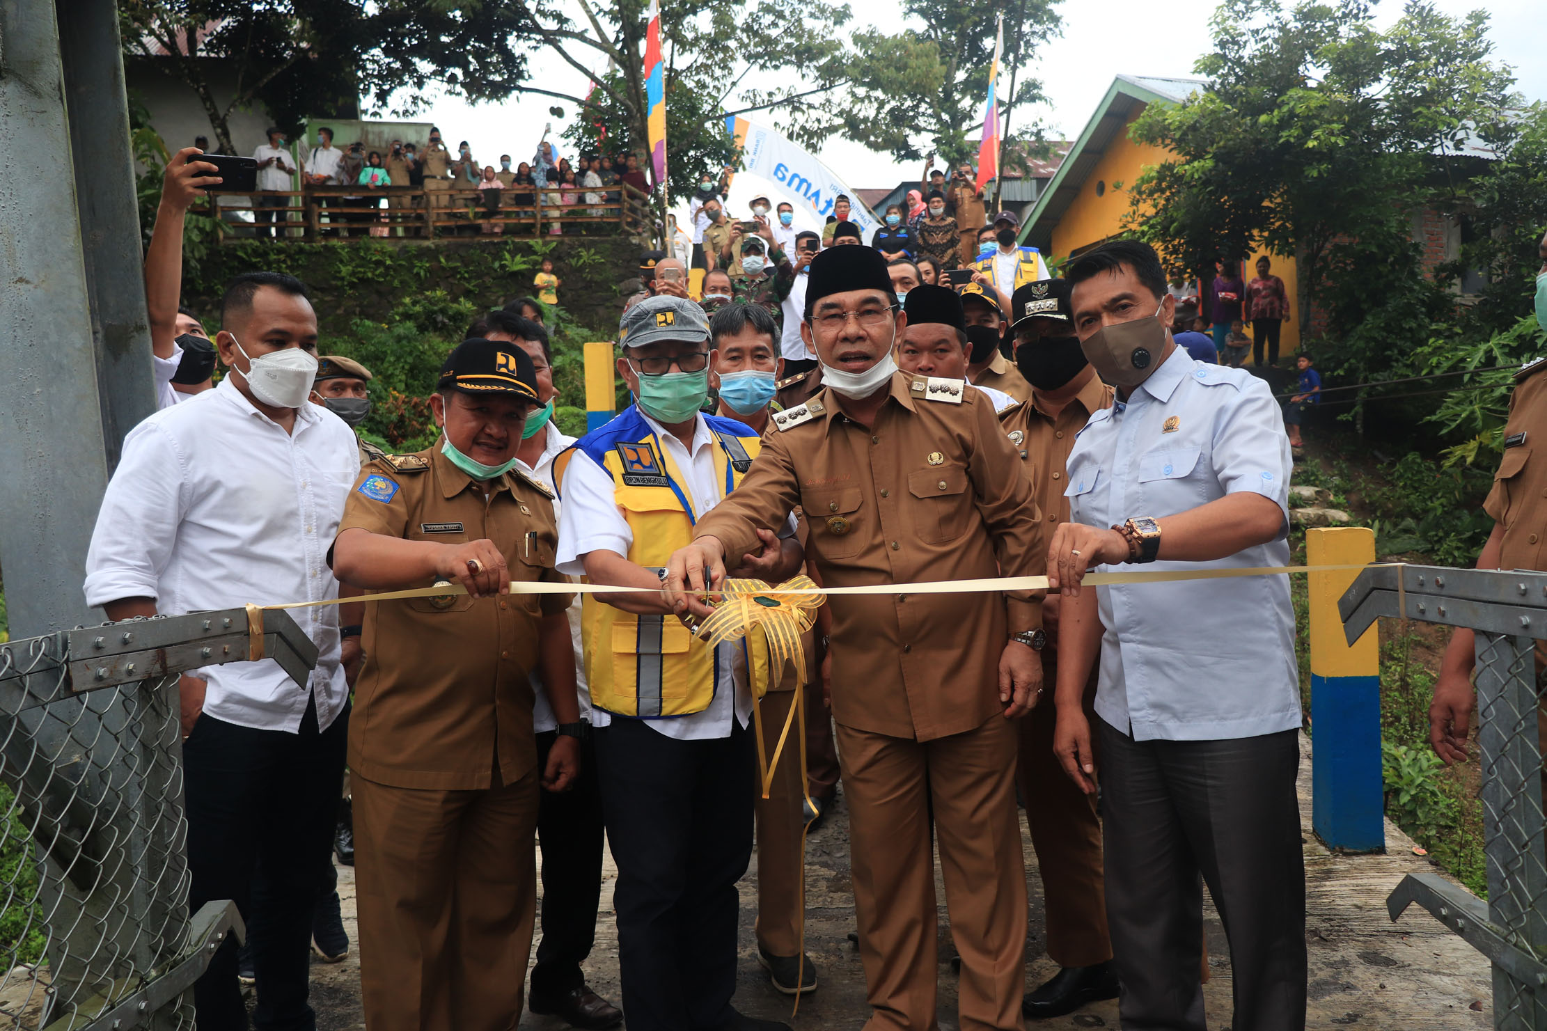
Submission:
{"label": "concrete walkway beneath the feet of the ribbon-cutting group", "polygon": [[[1309,1028],[1389,1028],[1392,1031],[1463,1031],[1493,1026],[1488,965],[1459,937],[1450,934],[1426,912],[1409,909],[1395,924],[1386,918],[1386,895],[1405,873],[1434,870],[1412,855],[1412,841],[1386,824],[1388,855],[1340,856],[1329,853],[1310,836],[1310,742],[1301,739],[1299,770],[1301,821],[1306,827],[1306,878],[1309,914],[1306,941],[1310,949]],[[848,934],[854,931],[854,900],[849,890],[848,813],[842,802],[828,822],[811,836],[806,878],[806,943],[820,971],[820,989],[800,1003],[791,1022],[797,1031],[859,1031],[869,1014],[865,1005],[865,975]],[[758,1017],[791,1020],[791,1003],[767,986],[752,946],[755,914],[753,869],[741,883],[743,949],[736,1006]],[[1035,870],[1036,856],[1026,838],[1026,866]],[[617,932],[611,915],[614,867],[606,859],[608,884],[603,914],[597,926],[597,946],[588,965],[591,985],[608,999],[619,999]],[[1027,941],[1027,983],[1035,986],[1055,972],[1043,954],[1043,903],[1033,875],[1030,935]],[[939,1026],[956,1029],[956,978],[950,969],[951,943],[941,898]],[[351,940],[354,926],[354,872],[340,869],[345,927]],[[1230,1028],[1230,949],[1219,918],[1207,912],[1208,949],[1213,978],[1204,994],[1211,1028]],[[312,1005],[322,1031],[364,1028],[359,1003],[359,966],[354,954],[337,966],[312,961]],[[566,1025],[526,1014],[521,1028],[558,1029]],[[1117,1003],[1097,1003],[1078,1014],[1047,1020],[1036,1028],[1117,1028]]]}

